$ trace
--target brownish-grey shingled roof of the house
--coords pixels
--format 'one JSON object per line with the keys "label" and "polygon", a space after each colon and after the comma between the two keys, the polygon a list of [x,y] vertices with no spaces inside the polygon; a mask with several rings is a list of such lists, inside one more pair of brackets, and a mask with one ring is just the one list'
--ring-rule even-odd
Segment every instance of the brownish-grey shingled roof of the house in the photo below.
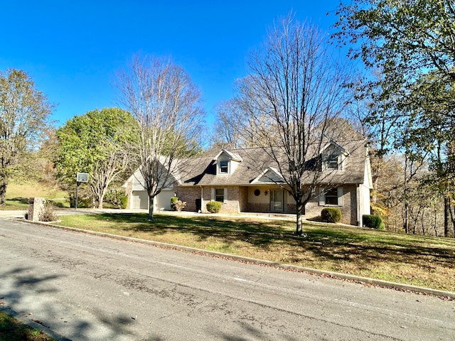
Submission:
{"label": "brownish-grey shingled roof of the house", "polygon": [[[346,156],[343,171],[331,171],[330,174],[323,173],[321,183],[364,183],[365,171],[367,169],[368,151],[365,140],[355,141],[337,141],[337,143],[327,142],[322,148],[313,148],[309,151],[306,161],[316,158],[329,144],[334,148],[342,148],[341,152]],[[214,156],[205,156],[198,158],[186,158],[178,160],[179,184],[182,186],[194,185],[211,185],[211,186],[228,186],[228,185],[252,185],[260,175],[272,169],[279,175],[279,165],[269,155],[271,149],[264,148],[242,148],[230,151],[224,151],[230,156],[231,161],[238,162],[235,171],[230,174],[217,175],[217,158],[223,151]],[[275,153],[279,153],[280,148],[274,148]],[[284,160],[282,161],[282,169]],[[257,183],[257,181],[255,181]]]}

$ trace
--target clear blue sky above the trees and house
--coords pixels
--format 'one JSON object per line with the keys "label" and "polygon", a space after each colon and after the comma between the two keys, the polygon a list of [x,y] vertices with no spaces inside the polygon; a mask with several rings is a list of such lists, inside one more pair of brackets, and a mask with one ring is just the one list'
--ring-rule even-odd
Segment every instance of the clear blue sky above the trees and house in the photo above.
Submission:
{"label": "clear blue sky above the trees and house", "polygon": [[117,106],[112,81],[134,54],[170,57],[200,87],[208,124],[232,97],[245,58],[274,20],[294,11],[327,30],[338,0],[0,0],[0,70],[28,72],[56,104],[57,125]]}

